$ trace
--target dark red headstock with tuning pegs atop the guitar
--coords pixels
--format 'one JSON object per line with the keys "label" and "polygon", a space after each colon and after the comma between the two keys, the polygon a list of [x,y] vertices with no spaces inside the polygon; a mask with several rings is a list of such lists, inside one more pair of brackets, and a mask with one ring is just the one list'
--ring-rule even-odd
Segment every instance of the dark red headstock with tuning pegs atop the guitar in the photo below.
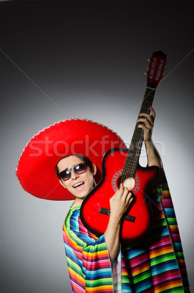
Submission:
{"label": "dark red headstock with tuning pegs atop the guitar", "polygon": [[148,60],[150,64],[148,65],[147,75],[147,84],[151,87],[157,87],[160,80],[163,78],[163,72],[165,71],[164,67],[167,64],[167,55],[162,51],[153,52],[151,58]]}

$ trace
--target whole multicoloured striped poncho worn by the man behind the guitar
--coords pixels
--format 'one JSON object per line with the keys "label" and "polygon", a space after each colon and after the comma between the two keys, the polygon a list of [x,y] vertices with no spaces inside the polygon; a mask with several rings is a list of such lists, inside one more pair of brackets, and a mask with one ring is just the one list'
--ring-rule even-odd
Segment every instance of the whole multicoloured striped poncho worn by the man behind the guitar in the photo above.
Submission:
{"label": "whole multicoloured striped poncho worn by the man behind the guitar", "polygon": [[[168,184],[150,194],[153,229],[145,242],[121,247],[120,278],[113,277],[105,236],[90,233],[80,206],[70,208],[64,242],[73,293],[190,293]],[[118,268],[118,266],[117,266]]]}

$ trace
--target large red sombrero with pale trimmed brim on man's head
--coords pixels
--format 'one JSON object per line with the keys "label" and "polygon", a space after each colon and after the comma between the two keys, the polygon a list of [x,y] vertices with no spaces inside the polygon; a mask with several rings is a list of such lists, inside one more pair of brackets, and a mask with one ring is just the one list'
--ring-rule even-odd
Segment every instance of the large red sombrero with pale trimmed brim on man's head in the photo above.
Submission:
{"label": "large red sombrero with pale trimmed brim on man's head", "polygon": [[55,166],[63,157],[81,154],[97,166],[96,183],[101,179],[104,153],[125,147],[123,140],[108,127],[86,119],[67,119],[43,128],[24,147],[16,175],[23,189],[49,200],[75,197],[59,183]]}

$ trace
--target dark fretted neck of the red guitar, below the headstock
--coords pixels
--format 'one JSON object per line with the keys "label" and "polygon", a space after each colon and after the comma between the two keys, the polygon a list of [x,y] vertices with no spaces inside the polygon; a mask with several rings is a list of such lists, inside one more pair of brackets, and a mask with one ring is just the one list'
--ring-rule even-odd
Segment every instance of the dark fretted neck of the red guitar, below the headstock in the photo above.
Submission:
{"label": "dark fretted neck of the red guitar, below the headstock", "polygon": [[[150,106],[153,103],[153,97],[155,94],[156,87],[157,86],[153,87],[152,84],[147,84],[146,92],[144,95],[144,99],[143,99],[139,114],[141,113],[150,114]],[[146,117],[141,116],[141,118],[146,118]],[[135,177],[137,165],[139,162],[139,157],[141,154],[142,144],[144,141],[144,131],[143,129],[137,127],[139,124],[144,125],[143,122],[136,123],[132,140],[129,146],[127,159],[125,161],[125,165],[122,172],[122,175],[124,175],[123,177],[125,177],[125,175],[129,177],[133,177],[133,178]]]}

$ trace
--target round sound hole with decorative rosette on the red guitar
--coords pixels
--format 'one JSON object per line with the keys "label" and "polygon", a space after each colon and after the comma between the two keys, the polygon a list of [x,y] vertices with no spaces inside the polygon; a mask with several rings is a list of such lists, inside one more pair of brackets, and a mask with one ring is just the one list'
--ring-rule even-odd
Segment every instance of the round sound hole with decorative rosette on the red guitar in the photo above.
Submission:
{"label": "round sound hole with decorative rosette on the red guitar", "polygon": [[[112,188],[115,192],[119,189],[120,184],[122,182],[122,171],[123,170],[117,171],[112,178]],[[133,190],[133,194],[138,190],[139,183],[139,177],[137,174],[135,174],[135,178],[129,177],[126,178],[123,182],[124,186],[127,186],[129,190]]]}

